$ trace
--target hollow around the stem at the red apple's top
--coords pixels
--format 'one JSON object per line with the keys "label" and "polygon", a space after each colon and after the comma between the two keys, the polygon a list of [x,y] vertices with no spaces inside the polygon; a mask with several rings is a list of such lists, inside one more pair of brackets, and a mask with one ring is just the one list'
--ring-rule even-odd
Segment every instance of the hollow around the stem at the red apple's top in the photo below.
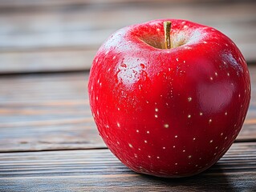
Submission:
{"label": "hollow around the stem at the red apple's top", "polygon": [[[130,33],[131,36],[136,36],[141,42],[148,44],[157,49],[165,49],[165,34],[163,28],[163,22],[165,20],[156,20],[156,22],[148,22],[136,25]],[[196,43],[207,43],[207,34],[212,31],[208,30],[209,27],[197,25],[197,29],[194,28],[193,22],[185,22],[181,20],[173,20],[172,29],[170,31],[172,48],[179,46],[187,46]],[[183,26],[183,27],[181,27]]]}

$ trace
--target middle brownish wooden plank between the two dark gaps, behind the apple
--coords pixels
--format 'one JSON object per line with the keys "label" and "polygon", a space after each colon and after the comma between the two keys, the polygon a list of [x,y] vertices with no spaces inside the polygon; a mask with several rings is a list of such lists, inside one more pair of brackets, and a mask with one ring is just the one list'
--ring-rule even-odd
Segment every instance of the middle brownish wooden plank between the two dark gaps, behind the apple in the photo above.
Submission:
{"label": "middle brownish wooden plank between the two dark gaps, behind the apple", "polygon": [[[256,141],[256,66],[252,99],[237,142]],[[104,148],[91,117],[88,73],[0,77],[0,151]]]}

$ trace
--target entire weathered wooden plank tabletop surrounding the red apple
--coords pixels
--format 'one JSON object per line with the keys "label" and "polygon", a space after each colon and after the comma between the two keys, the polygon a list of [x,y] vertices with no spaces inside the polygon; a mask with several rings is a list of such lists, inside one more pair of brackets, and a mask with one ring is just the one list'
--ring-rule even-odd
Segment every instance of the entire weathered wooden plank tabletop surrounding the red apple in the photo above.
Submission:
{"label": "entire weathered wooden plank tabletop surrounding the red apple", "polygon": [[[0,2],[0,191],[256,191],[256,2],[99,2]],[[168,17],[216,27],[250,63],[241,133],[191,178],[132,172],[106,148],[89,110],[88,70],[100,43],[122,26]]]}

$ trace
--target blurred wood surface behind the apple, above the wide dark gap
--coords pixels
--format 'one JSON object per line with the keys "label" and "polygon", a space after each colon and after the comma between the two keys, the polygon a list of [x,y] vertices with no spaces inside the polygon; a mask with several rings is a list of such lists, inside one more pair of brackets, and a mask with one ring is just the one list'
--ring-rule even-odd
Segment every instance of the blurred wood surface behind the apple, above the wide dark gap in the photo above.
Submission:
{"label": "blurred wood surface behind the apple, above the wide dark gap", "polygon": [[0,74],[88,70],[114,31],[156,18],[183,18],[228,35],[256,60],[255,1],[0,1]]}

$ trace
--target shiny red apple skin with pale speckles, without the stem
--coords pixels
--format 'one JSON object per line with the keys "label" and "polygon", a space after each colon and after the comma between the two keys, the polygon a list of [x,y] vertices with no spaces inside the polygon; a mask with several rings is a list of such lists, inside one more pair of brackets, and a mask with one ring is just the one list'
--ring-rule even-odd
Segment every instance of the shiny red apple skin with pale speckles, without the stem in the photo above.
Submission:
{"label": "shiny red apple skin with pale speckles, without the stem", "polygon": [[[171,21],[172,49],[163,22]],[[234,42],[209,26],[161,19],[124,27],[100,47],[88,83],[109,150],[141,174],[198,174],[238,136],[250,74]]]}

